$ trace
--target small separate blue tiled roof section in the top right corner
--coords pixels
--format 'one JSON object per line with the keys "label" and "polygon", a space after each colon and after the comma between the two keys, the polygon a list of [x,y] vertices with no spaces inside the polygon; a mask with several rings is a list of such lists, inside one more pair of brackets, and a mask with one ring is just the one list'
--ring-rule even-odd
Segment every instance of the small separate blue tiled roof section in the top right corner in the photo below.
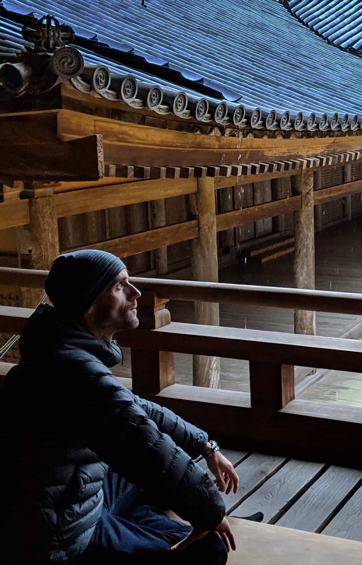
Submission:
{"label": "small separate blue tiled roof section in the top right corner", "polygon": [[362,53],[360,0],[282,0],[301,23],[341,49]]}

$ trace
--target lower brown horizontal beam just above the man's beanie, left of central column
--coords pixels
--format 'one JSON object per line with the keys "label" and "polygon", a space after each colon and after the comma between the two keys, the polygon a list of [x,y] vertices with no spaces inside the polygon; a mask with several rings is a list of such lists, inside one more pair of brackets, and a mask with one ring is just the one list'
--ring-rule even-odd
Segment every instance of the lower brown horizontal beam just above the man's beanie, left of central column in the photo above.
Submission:
{"label": "lower brown horizontal beam just above the man's beanie, left of central column", "polygon": [[[145,232],[133,233],[131,236],[117,237],[113,240],[101,241],[92,244],[92,249],[109,251],[119,257],[130,257],[137,253],[158,249],[160,242],[163,246],[179,243],[180,241],[192,240],[199,235],[199,222],[197,220],[185,221],[181,224],[166,225],[163,228],[149,229]],[[89,249],[89,245],[68,249],[76,251]]]}

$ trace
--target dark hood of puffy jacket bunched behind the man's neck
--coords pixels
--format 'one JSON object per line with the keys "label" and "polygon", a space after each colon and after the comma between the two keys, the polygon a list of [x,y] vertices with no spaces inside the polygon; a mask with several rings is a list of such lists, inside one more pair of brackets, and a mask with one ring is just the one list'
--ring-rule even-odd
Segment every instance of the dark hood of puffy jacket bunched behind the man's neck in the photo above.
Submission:
{"label": "dark hood of puffy jacket bunched behind the man's neck", "polygon": [[74,318],[63,316],[53,306],[41,304],[30,316],[21,332],[21,361],[31,363],[41,356],[53,357],[58,351],[80,349],[99,359],[106,367],[123,360],[117,341],[98,340]]}

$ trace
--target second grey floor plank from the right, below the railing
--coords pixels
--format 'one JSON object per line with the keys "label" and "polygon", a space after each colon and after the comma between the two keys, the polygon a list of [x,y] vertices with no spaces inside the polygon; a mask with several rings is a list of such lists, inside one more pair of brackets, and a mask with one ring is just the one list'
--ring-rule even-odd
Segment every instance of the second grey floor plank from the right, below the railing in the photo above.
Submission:
{"label": "second grey floor plank from the right, below the railing", "polygon": [[329,467],[277,521],[277,525],[319,533],[361,481],[362,471]]}

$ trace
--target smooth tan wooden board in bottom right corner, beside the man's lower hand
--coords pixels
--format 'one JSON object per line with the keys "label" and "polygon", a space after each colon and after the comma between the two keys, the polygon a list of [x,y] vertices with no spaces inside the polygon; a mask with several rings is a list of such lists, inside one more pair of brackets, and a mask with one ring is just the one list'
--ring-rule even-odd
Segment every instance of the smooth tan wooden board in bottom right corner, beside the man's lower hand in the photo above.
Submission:
{"label": "smooth tan wooden board in bottom right corner, beside the man's lower hand", "polygon": [[362,544],[228,518],[236,540],[227,565],[360,565]]}

